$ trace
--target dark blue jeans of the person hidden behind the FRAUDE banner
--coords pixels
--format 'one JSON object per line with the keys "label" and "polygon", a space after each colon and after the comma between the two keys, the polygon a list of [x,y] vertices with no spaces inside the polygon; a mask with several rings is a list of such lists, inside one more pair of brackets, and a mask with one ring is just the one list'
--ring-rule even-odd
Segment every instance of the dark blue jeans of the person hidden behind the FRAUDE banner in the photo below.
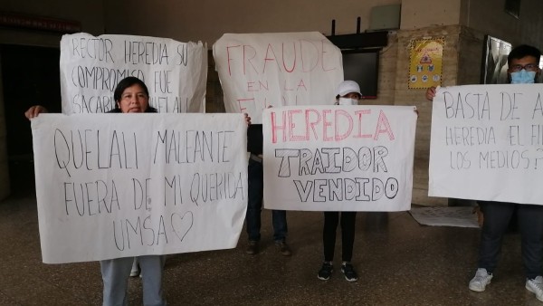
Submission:
{"label": "dark blue jeans of the person hidden behind the FRAUDE banner", "polygon": [[[260,241],[262,196],[264,194],[262,163],[250,158],[247,172],[249,181],[247,215],[245,215],[247,234],[249,234],[250,241]],[[285,241],[288,232],[287,212],[284,210],[272,210],[271,223],[273,225],[273,240],[275,242]]]}

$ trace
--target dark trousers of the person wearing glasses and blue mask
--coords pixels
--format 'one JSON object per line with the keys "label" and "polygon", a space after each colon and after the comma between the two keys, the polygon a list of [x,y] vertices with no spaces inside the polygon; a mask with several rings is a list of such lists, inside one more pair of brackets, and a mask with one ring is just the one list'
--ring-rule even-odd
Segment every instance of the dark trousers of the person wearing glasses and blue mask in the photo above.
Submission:
{"label": "dark trousers of the person wearing glasses and blue mask", "polygon": [[484,221],[481,230],[479,268],[493,273],[501,251],[501,241],[517,208],[522,261],[526,277],[541,275],[543,258],[543,206],[479,201]]}

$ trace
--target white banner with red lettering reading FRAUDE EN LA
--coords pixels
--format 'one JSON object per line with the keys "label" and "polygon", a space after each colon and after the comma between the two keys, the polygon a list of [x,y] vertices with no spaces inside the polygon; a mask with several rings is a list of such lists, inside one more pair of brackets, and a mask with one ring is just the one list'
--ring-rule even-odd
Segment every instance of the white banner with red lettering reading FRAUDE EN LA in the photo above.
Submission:
{"label": "white banner with red lettering reading FRAUDE EN LA", "polygon": [[262,123],[270,106],[329,105],[343,81],[341,51],[321,33],[225,33],[213,45],[227,112]]}

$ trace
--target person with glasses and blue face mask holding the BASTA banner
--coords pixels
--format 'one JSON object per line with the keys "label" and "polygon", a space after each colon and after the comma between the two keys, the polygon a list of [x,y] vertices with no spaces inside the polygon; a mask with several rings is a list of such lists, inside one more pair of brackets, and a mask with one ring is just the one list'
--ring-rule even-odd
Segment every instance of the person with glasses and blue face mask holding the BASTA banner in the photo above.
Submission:
{"label": "person with glasses and blue face mask holding the BASTA banner", "polygon": [[[519,45],[511,50],[508,62],[508,78],[512,84],[534,83],[538,80],[538,48]],[[426,99],[433,100],[435,88],[426,91]],[[526,275],[525,288],[543,301],[543,206],[496,201],[478,201],[483,214],[478,268],[469,288],[473,292],[484,292],[491,283],[498,263],[501,242],[511,219],[516,215],[521,236],[521,253]]]}

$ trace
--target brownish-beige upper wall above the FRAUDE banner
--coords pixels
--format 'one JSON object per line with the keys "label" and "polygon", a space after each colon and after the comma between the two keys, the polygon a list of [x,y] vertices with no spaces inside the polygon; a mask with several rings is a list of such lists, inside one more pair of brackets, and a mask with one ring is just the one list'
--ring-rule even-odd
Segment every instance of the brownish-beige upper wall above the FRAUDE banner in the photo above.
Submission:
{"label": "brownish-beige upper wall above the FRAUDE banner", "polygon": [[[169,0],[161,5],[147,0],[130,1],[130,14],[121,1],[106,4],[108,33],[165,36],[176,40],[202,41],[211,45],[223,33],[271,33],[318,31],[329,35],[332,19],[336,33],[355,33],[368,28],[371,7],[398,5],[401,0],[279,0],[202,1]],[[136,8],[133,10],[133,8]]]}

